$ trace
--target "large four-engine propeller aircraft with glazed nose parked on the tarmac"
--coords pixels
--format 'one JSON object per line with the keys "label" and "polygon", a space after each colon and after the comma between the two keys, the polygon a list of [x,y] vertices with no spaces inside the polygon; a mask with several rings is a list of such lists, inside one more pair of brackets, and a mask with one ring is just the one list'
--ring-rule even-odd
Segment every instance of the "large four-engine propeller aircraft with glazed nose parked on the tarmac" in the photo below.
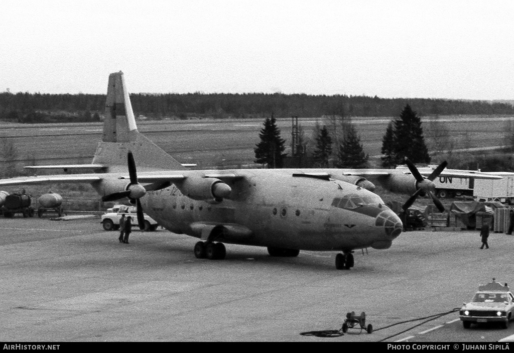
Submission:
{"label": "large four-engine propeller aircraft with glazed nose parked on the tarmac", "polygon": [[432,193],[431,180],[443,175],[443,164],[427,179],[412,163],[414,177],[392,170],[188,170],[138,132],[120,71],[109,76],[103,138],[93,162],[37,167],[92,173],[3,179],[0,185],[88,182],[104,201],[127,197],[136,203],[140,228],[145,212],[171,232],[199,238],[198,258],[224,258],[223,243],[267,247],[271,256],[340,251],[336,268],[350,269],[353,250],[387,249],[402,231],[400,218],[362,175],[413,193],[412,203]]}

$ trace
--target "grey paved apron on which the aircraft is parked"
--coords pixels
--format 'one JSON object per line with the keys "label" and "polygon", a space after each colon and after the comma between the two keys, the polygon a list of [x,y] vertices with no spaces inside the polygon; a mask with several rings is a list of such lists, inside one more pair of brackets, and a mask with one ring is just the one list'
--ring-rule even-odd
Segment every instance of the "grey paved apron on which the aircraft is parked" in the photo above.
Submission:
{"label": "grey paved apron on which the aircraft is parked", "polygon": [[[514,236],[502,233],[491,233],[489,250],[478,231],[402,233],[388,250],[356,251],[355,267],[340,271],[336,252],[277,258],[229,244],[224,261],[196,259],[196,239],[166,230],[120,244],[99,219],[1,218],[0,229],[0,341],[392,342],[458,314],[398,336],[419,322],[383,327],[460,307],[492,277],[514,280]],[[364,311],[375,332],[300,335],[337,330],[348,311]],[[439,340],[474,340],[457,324]],[[512,333],[514,324],[500,331]]]}

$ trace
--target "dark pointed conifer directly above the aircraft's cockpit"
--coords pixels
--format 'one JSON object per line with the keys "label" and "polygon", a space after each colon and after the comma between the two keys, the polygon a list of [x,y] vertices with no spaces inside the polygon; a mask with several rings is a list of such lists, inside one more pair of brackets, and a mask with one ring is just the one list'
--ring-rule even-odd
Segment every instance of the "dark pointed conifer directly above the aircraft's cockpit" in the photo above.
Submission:
{"label": "dark pointed conifer directly above the aircraft's cockpit", "polygon": [[366,168],[369,155],[364,153],[360,137],[355,131],[353,124],[347,127],[346,135],[339,145],[338,160],[335,163],[337,168]]}

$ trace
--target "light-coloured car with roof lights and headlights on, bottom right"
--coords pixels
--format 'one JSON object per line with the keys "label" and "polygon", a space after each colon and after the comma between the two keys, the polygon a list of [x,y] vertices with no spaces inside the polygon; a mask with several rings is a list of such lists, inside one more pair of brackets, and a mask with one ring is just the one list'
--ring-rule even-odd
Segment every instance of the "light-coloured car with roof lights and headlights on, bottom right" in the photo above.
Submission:
{"label": "light-coloured car with roof lights and headlights on, bottom right", "polygon": [[470,303],[464,303],[460,318],[464,328],[471,324],[499,322],[507,328],[514,318],[514,296],[505,283],[502,285],[492,279],[491,283],[479,286]]}

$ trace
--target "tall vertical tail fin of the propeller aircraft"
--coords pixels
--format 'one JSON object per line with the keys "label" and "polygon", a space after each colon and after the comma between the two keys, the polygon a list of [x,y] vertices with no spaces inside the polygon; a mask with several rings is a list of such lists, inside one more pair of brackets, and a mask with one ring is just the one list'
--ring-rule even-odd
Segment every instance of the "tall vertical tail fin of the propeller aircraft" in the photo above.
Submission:
{"label": "tall vertical tail fin of the propeller aircraft", "polygon": [[137,130],[123,72],[109,75],[102,142],[93,164],[108,165],[109,172],[126,171],[132,151],[138,170],[183,170],[182,164]]}

